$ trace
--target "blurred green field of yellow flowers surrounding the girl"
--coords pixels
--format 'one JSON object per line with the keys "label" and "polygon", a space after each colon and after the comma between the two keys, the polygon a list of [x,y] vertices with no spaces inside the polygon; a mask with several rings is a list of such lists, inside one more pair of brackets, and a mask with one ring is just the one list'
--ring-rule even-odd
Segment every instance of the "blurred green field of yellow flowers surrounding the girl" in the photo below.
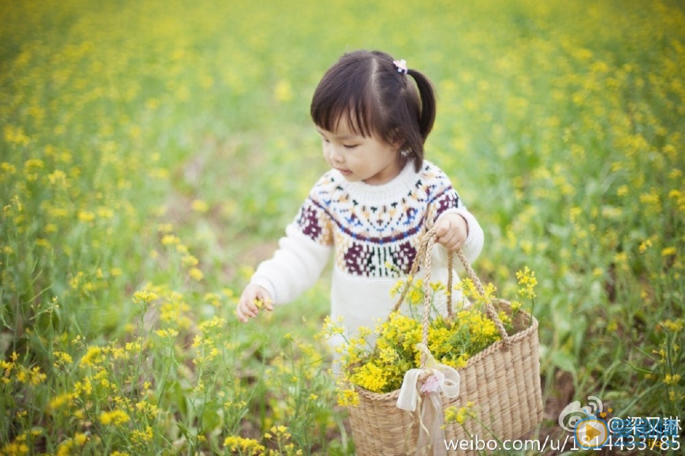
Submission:
{"label": "blurred green field of yellow flowers surrounding the girl", "polygon": [[[319,79],[382,49],[504,299],[537,279],[545,420],[685,409],[678,1],[3,1],[0,455],[354,454],[327,273],[234,316],[325,171]],[[461,414],[464,419],[464,413]]]}

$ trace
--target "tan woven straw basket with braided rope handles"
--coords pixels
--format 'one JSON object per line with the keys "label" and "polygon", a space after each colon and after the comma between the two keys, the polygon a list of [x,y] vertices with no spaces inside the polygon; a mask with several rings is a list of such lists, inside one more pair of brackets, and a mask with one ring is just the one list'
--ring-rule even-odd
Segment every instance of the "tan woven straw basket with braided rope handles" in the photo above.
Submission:
{"label": "tan woven straw basket with braided rope handles", "polygon": [[[425,303],[423,312],[423,343],[427,344],[430,257],[435,233],[430,230],[424,236],[416,265],[425,261]],[[482,285],[469,262],[460,251],[456,252],[466,273],[484,294]],[[449,255],[451,271],[452,255]],[[451,290],[451,277],[448,288]],[[403,296],[398,302],[401,304]],[[451,312],[448,299],[448,314]],[[488,315],[493,318],[502,340],[474,355],[460,375],[460,393],[456,398],[442,396],[443,411],[447,407],[465,407],[473,403],[476,418],[466,418],[462,425],[449,422],[445,425],[446,440],[505,440],[520,438],[531,431],[542,419],[543,403],[540,391],[540,362],[538,359],[538,322],[530,314],[520,310],[514,317],[516,333],[507,335],[497,316],[503,310],[512,314],[510,303],[497,300],[488,305]],[[421,368],[425,368],[425,357]],[[379,394],[356,387],[359,405],[349,407],[353,440],[358,455],[414,455],[419,435],[418,409],[411,413],[397,408],[399,390]],[[481,448],[482,449],[482,448]],[[444,448],[443,448],[444,450]],[[444,451],[442,452],[444,453]]]}

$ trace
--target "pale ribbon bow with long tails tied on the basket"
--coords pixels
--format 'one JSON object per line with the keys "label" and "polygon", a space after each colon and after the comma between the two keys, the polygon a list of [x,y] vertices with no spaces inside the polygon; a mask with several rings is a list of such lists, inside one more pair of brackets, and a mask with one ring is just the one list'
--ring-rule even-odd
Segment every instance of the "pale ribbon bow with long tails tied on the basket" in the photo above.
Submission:
{"label": "pale ribbon bow with long tails tied on the basket", "polygon": [[[443,401],[440,392],[448,398],[459,394],[459,372],[445,364],[436,362],[425,344],[416,344],[416,349],[426,357],[424,369],[410,369],[404,375],[402,387],[397,396],[397,408],[415,411],[421,404],[419,413],[419,440],[416,442],[416,455],[421,449],[432,446],[434,455],[445,455],[445,429],[443,429]],[[419,389],[417,383],[422,376],[426,376]],[[419,392],[425,394],[421,401]]]}

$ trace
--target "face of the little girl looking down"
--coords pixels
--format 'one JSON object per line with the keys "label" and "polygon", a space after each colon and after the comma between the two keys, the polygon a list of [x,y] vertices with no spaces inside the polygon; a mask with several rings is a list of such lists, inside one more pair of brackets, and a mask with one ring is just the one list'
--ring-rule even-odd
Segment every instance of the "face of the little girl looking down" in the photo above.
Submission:
{"label": "face of the little girl looking down", "polygon": [[323,142],[323,157],[348,181],[380,185],[394,179],[402,170],[397,147],[375,136],[354,133],[344,122],[336,131],[316,127]]}

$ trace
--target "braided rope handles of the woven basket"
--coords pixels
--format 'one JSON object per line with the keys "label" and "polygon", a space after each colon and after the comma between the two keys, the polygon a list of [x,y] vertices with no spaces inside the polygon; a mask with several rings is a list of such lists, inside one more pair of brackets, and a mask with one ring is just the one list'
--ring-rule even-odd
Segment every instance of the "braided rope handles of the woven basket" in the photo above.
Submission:
{"label": "braided rope handles of the woven basket", "polygon": [[[421,325],[422,325],[422,333],[421,333],[421,341],[425,346],[428,345],[428,327],[429,327],[429,316],[430,316],[430,301],[431,301],[431,286],[430,286],[430,276],[431,276],[431,269],[432,269],[432,251],[433,247],[435,245],[435,242],[437,240],[438,236],[436,235],[436,227],[432,227],[426,233],[423,235],[423,238],[421,238],[421,243],[419,244],[419,250],[416,252],[416,257],[414,257],[414,264],[412,264],[412,270],[409,273],[409,279],[407,280],[407,283],[404,285],[404,288],[402,290],[401,295],[399,296],[399,300],[395,304],[395,307],[393,308],[394,312],[397,312],[399,310],[399,307],[402,305],[402,302],[407,296],[407,293],[409,292],[409,288],[412,285],[412,282],[414,281],[414,276],[416,273],[419,271],[419,264],[423,262],[425,266],[425,276],[423,278],[423,314],[421,315]],[[466,259],[466,255],[464,255],[464,252],[461,250],[456,250],[456,251],[449,251],[447,253],[447,316],[448,318],[453,318],[453,310],[452,310],[452,264],[454,262],[454,254],[456,253],[457,257],[459,258],[460,262],[462,265],[464,265],[464,269],[466,270],[466,275],[469,276],[469,278],[473,281],[473,284],[475,285],[475,288],[477,292],[481,296],[485,296],[485,288],[483,288],[483,284],[481,283],[480,279],[476,275],[475,271],[471,267],[471,264],[469,263],[469,260]],[[493,303],[488,301],[486,303],[486,312],[488,316],[490,317],[493,322],[495,322],[495,326],[497,327],[497,331],[499,331],[499,335],[501,335],[502,340],[505,342],[505,346],[508,347],[511,344],[510,336],[508,335],[506,329],[504,328],[504,325],[502,321],[499,318],[499,315],[497,314],[497,310],[495,309],[495,306],[493,306]],[[426,355],[425,353],[421,354],[421,369],[425,369],[426,367]]]}

